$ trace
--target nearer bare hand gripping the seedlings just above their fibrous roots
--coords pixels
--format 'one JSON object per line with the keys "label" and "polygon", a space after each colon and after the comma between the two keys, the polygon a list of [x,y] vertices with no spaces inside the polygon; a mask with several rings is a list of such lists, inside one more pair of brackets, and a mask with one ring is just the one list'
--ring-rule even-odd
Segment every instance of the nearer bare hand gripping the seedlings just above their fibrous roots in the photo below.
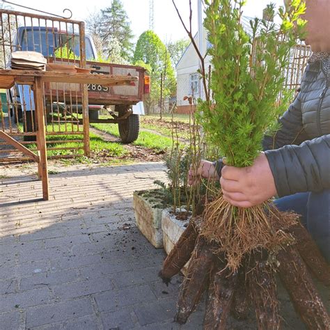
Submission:
{"label": "nearer bare hand gripping the seedlings just above their fibrous roots", "polygon": [[238,207],[259,205],[276,195],[274,177],[264,152],[252,166],[224,166],[220,183],[223,198]]}

